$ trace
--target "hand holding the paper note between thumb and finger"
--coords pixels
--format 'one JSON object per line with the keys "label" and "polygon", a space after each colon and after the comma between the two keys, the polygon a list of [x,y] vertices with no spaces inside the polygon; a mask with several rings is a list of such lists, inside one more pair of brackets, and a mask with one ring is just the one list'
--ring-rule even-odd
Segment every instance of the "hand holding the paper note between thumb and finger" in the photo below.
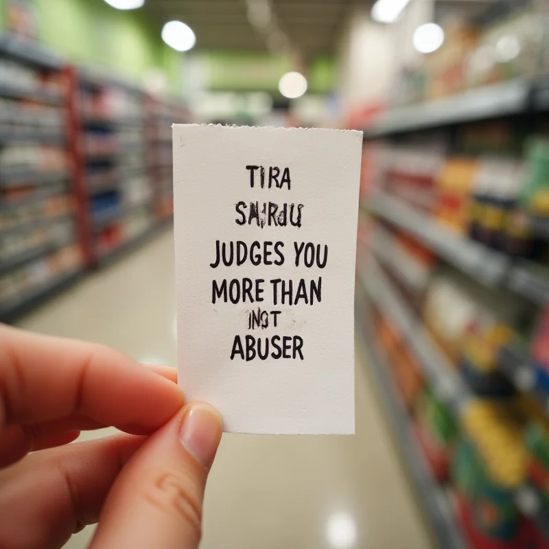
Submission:
{"label": "hand holding the paper note between thumb and finger", "polygon": [[[222,422],[175,378],[0,327],[0,548],[59,548],[98,520],[91,549],[196,548]],[[128,434],[68,445],[108,425]]]}

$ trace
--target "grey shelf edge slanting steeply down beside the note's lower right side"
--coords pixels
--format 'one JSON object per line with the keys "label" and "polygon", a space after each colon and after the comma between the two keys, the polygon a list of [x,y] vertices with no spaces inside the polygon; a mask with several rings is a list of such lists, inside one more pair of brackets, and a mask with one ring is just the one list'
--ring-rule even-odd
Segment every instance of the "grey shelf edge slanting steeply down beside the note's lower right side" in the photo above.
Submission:
{"label": "grey shelf edge slanting steeply down beside the note's lower right side", "polygon": [[421,364],[423,375],[429,380],[436,395],[456,414],[461,414],[471,399],[471,392],[432,336],[423,328],[419,318],[401,298],[373,257],[369,257],[367,266],[361,266],[358,274],[373,303],[390,318],[401,336],[408,341]]}

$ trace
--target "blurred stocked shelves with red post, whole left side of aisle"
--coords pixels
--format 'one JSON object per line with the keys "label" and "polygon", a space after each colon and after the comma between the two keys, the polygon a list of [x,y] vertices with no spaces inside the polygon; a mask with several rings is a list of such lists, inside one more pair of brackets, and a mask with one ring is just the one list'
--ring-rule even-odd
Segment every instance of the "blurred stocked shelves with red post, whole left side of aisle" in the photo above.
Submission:
{"label": "blurred stocked shelves with red post, whole left side of aisle", "polygon": [[11,36],[0,95],[0,319],[11,320],[171,218],[170,126],[189,113]]}

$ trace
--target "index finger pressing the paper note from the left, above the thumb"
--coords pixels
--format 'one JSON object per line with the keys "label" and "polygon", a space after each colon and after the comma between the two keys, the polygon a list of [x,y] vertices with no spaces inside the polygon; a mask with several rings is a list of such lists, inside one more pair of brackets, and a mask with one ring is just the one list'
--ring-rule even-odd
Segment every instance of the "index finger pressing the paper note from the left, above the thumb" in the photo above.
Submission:
{"label": "index finger pressing the paper note from the left, above the thumb", "polygon": [[0,327],[0,429],[76,412],[152,431],[181,406],[176,384],[113,349]]}

